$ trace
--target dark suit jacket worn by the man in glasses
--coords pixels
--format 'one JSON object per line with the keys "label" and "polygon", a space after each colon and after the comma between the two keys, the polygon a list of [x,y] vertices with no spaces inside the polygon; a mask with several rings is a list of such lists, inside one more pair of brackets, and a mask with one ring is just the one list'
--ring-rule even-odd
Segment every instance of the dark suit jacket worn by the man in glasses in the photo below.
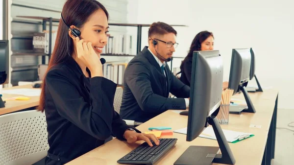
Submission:
{"label": "dark suit jacket worn by the man in glasses", "polygon": [[[120,110],[123,119],[145,122],[169,109],[186,109],[184,98],[189,97],[190,87],[176,78],[168,65],[164,70],[166,77],[147,47],[128,63]],[[170,92],[178,98],[169,98]]]}

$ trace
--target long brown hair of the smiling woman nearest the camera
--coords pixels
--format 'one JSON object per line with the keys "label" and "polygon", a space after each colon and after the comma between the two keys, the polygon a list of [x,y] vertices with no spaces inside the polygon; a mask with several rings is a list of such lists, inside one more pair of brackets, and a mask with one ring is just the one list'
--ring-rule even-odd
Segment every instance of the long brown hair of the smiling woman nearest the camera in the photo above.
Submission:
{"label": "long brown hair of the smiling woman nearest the camera", "polygon": [[[67,0],[62,9],[62,16],[66,24],[75,25],[81,28],[98,9],[102,9],[108,19],[108,12],[105,7],[97,0]],[[66,61],[73,53],[73,39],[68,35],[69,27],[60,19],[54,49],[49,61],[47,72],[55,65]],[[68,45],[67,45],[68,44]],[[47,73],[46,73],[47,74]],[[40,96],[38,111],[45,110],[45,88],[46,80],[43,80],[42,92]]]}

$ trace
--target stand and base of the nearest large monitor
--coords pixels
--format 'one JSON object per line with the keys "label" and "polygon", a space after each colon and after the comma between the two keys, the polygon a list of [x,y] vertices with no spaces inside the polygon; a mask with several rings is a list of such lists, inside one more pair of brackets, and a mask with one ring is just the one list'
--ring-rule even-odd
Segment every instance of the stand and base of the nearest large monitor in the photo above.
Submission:
{"label": "stand and base of the nearest large monitor", "polygon": [[[235,165],[236,160],[218,120],[209,117],[208,123],[212,125],[220,147],[190,146],[173,165],[211,165],[212,163]],[[218,154],[219,149],[221,154]]]}

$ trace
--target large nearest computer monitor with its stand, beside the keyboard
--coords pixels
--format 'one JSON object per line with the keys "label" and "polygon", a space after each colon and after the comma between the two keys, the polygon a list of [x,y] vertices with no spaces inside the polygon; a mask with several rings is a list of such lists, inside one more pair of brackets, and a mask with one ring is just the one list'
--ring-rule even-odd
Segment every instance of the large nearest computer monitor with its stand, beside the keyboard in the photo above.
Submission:
{"label": "large nearest computer monitor with its stand, beside the keyboard", "polygon": [[[193,141],[209,124],[220,147],[190,146],[174,165],[213,163],[234,165],[232,151],[216,119],[221,105],[223,63],[219,50],[194,51],[188,111],[187,141]],[[221,154],[217,152],[221,149]]]}

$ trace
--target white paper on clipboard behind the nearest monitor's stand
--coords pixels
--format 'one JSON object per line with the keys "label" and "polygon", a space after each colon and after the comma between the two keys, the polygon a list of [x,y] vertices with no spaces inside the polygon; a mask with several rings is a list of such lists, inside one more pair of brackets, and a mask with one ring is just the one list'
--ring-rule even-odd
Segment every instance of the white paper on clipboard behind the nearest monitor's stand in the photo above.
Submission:
{"label": "white paper on clipboard behind the nearest monitor's stand", "polygon": [[[173,132],[180,133],[180,134],[187,134],[187,127],[182,128],[182,129],[178,129],[178,130],[174,130]],[[254,136],[253,134],[250,134],[250,133],[236,132],[236,131],[230,131],[230,130],[225,130],[225,129],[223,129],[222,132],[225,136],[225,139],[231,143],[236,143],[238,141],[242,141],[246,138],[250,138],[250,137]],[[216,135],[215,135],[212,127],[205,128],[204,131],[202,131],[202,133],[199,135],[199,137],[217,140]]]}

